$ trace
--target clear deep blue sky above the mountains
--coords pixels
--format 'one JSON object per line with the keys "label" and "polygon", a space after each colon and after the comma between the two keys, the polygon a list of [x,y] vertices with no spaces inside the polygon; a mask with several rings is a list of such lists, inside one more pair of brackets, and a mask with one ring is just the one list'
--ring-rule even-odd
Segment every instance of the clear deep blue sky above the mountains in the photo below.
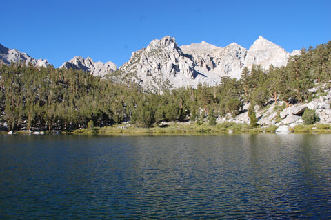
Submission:
{"label": "clear deep blue sky above the mountains", "polygon": [[331,40],[331,1],[1,2],[0,43],[55,67],[73,56],[118,66],[152,39],[250,47],[259,37],[285,50]]}

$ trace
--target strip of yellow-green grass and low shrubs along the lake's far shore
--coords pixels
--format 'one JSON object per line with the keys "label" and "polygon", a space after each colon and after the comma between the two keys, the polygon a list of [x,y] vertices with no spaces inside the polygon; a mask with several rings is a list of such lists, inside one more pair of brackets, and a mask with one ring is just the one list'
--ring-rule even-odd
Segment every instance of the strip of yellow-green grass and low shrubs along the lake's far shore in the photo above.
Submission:
{"label": "strip of yellow-green grass and low shrubs along the lake's far shore", "polygon": [[[290,128],[290,133],[331,133],[330,124],[299,124]],[[154,126],[151,128],[139,128],[134,125],[114,124],[102,128],[94,127],[93,129],[77,129],[74,131],[61,131],[57,134],[72,135],[217,135],[225,133],[275,133],[277,126],[252,128],[249,124],[236,124],[234,122],[224,122],[211,126],[209,124],[183,124],[173,123],[165,127]],[[6,134],[3,131],[1,134]],[[16,134],[30,134],[28,131],[15,131]],[[45,131],[45,134],[54,132]]]}

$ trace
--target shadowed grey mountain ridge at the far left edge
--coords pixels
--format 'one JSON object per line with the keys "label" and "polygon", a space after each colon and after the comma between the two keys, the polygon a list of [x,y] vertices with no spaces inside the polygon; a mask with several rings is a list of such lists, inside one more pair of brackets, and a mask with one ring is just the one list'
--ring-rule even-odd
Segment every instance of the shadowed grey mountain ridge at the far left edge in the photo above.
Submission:
{"label": "shadowed grey mountain ridge at the far left edge", "polygon": [[35,58],[32,58],[26,53],[19,52],[16,49],[9,49],[1,44],[0,44],[0,61],[8,65],[10,64],[10,62],[24,61],[26,65],[28,65],[28,63],[32,63],[33,65],[36,65],[38,67],[46,67],[49,64],[47,60],[43,60],[43,59],[37,60]]}

